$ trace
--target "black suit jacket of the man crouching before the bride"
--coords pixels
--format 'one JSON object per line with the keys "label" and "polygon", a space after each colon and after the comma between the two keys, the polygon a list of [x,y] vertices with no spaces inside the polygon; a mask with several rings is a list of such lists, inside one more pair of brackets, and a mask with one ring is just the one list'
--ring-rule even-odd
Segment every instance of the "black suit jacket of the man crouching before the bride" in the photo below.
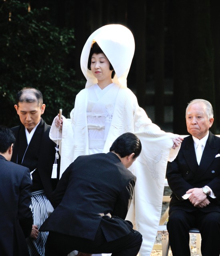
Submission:
{"label": "black suit jacket of the man crouching before the bride", "polygon": [[[126,218],[135,182],[114,153],[78,157],[62,174],[54,191],[57,207],[40,230],[94,240],[102,220],[108,242],[127,235],[131,227],[119,218]],[[119,218],[102,218],[108,213]]]}

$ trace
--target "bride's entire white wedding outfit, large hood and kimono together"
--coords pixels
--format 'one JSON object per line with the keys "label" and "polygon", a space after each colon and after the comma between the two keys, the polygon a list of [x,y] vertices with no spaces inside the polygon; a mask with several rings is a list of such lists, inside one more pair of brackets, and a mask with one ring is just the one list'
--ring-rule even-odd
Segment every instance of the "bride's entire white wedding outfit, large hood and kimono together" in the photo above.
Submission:
{"label": "bride's entire white wedding outfit, large hood and kimono together", "polygon": [[[108,92],[103,91],[100,95],[95,88],[98,81],[88,69],[88,57],[94,41],[116,73],[113,84],[104,89]],[[76,96],[70,119],[63,117],[62,133],[53,122],[50,138],[60,144],[62,175],[79,155],[109,152],[114,140],[122,133],[132,132],[139,137],[142,152],[129,168],[137,181],[126,219],[132,221],[134,228],[143,236],[139,255],[150,256],[160,221],[167,161],[175,159],[180,146],[172,149],[172,139],[178,135],[165,133],[153,124],[138,106],[134,93],[127,88],[126,79],[133,55],[134,37],[125,26],[110,24],[94,31],[86,41],[80,59],[87,80],[86,88]],[[97,122],[98,117],[100,121]]]}

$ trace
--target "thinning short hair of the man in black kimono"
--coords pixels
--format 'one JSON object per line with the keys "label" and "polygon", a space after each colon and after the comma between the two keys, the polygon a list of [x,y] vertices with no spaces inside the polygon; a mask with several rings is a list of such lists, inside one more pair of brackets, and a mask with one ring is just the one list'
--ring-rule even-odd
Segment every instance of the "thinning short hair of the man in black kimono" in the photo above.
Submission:
{"label": "thinning short hair of the man in black kimono", "polygon": [[[24,96],[24,94],[25,94],[25,96]],[[28,94],[29,95],[34,95],[36,97],[36,99],[32,99],[32,97],[29,98]],[[42,95],[42,93],[39,90],[37,90],[35,88],[24,87],[16,95],[16,103],[17,103],[17,105],[19,103],[22,103],[22,102],[27,102],[27,103],[37,102],[38,105],[40,106],[40,105],[43,104],[43,95]]]}

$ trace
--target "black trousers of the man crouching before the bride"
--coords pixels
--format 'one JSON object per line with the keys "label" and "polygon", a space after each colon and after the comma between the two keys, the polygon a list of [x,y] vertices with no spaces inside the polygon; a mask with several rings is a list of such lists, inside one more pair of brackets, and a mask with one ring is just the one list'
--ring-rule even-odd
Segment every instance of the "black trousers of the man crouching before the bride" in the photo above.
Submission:
{"label": "black trousers of the man crouching before the bride", "polygon": [[101,228],[98,229],[94,241],[49,232],[45,256],[66,256],[74,250],[90,254],[112,253],[112,256],[136,256],[141,244],[142,235],[136,230],[111,242],[106,241]]}

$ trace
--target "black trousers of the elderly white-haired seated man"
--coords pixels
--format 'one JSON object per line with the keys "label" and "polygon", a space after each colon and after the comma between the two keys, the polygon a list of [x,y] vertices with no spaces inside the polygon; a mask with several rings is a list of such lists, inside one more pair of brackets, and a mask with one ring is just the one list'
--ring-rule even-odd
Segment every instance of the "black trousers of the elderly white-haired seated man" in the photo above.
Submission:
{"label": "black trousers of the elderly white-haired seated man", "polygon": [[167,230],[173,256],[190,256],[190,228],[198,228],[202,237],[202,256],[220,255],[220,213],[200,210],[173,210],[169,214]]}

